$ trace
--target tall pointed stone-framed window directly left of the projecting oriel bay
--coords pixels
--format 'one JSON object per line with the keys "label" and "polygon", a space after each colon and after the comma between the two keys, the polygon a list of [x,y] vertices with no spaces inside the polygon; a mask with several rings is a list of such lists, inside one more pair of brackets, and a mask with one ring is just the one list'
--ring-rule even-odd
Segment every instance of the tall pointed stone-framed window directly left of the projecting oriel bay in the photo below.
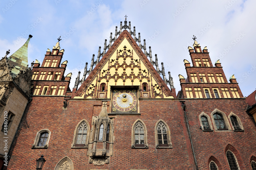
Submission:
{"label": "tall pointed stone-framed window directly left of the projecting oriel bay", "polygon": [[87,120],[81,120],[74,131],[71,148],[88,148],[90,126]]}

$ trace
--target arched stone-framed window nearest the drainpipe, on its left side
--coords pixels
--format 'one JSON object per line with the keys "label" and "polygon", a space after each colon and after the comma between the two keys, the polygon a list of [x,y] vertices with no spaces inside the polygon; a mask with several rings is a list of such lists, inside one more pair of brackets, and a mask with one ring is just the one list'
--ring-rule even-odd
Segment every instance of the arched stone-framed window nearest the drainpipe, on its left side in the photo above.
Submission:
{"label": "arched stone-framed window nearest the drainpipe, on its left side", "polygon": [[172,148],[170,129],[162,119],[158,120],[155,125],[155,142],[156,148]]}

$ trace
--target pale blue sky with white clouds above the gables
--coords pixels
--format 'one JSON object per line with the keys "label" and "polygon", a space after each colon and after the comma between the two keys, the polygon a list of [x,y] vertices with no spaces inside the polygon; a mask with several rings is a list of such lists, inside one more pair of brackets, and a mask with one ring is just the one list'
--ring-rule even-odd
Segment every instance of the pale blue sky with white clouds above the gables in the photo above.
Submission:
{"label": "pale blue sky with white clouds above the gables", "polygon": [[[165,72],[171,72],[176,92],[180,90],[178,75],[187,77],[184,62],[191,62],[188,46],[193,46],[193,34],[201,47],[207,46],[212,63],[220,59],[227,79],[235,75],[244,96],[256,86],[256,1],[21,1],[0,2],[0,54],[10,49],[13,54],[28,35],[33,35],[28,48],[28,61],[44,59],[61,35],[62,61],[68,60],[65,76],[72,72],[70,88],[85,62],[91,63],[99,46],[104,46],[115,26],[120,27],[127,15],[136,36],[146,39],[164,62]],[[109,42],[108,42],[109,43]],[[154,58],[154,57],[153,57]]]}

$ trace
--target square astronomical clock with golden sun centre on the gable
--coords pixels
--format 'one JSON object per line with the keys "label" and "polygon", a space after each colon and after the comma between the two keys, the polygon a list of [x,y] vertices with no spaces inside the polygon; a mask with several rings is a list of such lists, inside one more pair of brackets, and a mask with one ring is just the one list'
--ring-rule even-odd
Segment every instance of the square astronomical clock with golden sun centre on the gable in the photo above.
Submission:
{"label": "square astronomical clock with golden sun centre on the gable", "polygon": [[136,90],[113,90],[112,112],[137,112]]}

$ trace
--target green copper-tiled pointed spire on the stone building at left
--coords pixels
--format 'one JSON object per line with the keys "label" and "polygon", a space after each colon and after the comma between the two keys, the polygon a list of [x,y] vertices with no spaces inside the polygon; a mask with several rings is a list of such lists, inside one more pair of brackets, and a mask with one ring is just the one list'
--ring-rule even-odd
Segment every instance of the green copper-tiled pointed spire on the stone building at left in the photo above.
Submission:
{"label": "green copper-tiled pointed spire on the stone building at left", "polygon": [[12,66],[12,76],[15,76],[19,73],[21,69],[26,69],[28,65],[28,43],[29,40],[32,38],[32,35],[29,35],[27,42],[20,47],[14,54],[12,54],[8,59],[10,59],[9,66]]}

